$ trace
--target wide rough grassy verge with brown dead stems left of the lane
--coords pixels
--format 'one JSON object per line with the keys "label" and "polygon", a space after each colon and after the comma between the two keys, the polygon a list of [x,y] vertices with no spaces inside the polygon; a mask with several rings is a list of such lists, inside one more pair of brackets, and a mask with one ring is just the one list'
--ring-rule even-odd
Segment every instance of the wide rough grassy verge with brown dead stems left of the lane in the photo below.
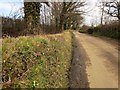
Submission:
{"label": "wide rough grassy verge with brown dead stems left of the lane", "polygon": [[2,45],[3,87],[68,88],[71,40],[70,32],[5,38]]}

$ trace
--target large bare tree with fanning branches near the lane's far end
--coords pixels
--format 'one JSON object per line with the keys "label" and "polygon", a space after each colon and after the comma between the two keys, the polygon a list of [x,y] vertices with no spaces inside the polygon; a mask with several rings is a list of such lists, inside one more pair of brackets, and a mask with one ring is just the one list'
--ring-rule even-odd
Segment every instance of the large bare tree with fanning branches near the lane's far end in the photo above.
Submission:
{"label": "large bare tree with fanning branches near the lane's far end", "polygon": [[85,6],[85,2],[82,0],[76,2],[61,2],[53,3],[52,6],[55,15],[56,28],[59,28],[59,31],[62,31],[66,27],[67,19],[70,20],[71,17],[83,13],[80,8]]}

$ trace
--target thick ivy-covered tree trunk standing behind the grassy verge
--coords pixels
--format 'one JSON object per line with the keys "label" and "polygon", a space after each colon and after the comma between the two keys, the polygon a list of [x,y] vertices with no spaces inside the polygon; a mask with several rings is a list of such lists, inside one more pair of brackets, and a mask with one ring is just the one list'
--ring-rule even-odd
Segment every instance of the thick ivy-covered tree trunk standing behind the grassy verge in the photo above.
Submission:
{"label": "thick ivy-covered tree trunk standing behind the grassy verge", "polygon": [[40,3],[24,2],[25,34],[34,34],[40,22]]}

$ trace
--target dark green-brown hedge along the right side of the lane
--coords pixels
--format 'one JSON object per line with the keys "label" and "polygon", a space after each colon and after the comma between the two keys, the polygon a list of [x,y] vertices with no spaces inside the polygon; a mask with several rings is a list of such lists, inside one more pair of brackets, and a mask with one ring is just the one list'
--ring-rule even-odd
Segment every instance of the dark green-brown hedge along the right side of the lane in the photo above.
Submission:
{"label": "dark green-brown hedge along the right side of the lane", "polygon": [[95,35],[107,36],[110,38],[118,39],[120,36],[119,22],[113,21],[109,24],[99,25],[93,28]]}

